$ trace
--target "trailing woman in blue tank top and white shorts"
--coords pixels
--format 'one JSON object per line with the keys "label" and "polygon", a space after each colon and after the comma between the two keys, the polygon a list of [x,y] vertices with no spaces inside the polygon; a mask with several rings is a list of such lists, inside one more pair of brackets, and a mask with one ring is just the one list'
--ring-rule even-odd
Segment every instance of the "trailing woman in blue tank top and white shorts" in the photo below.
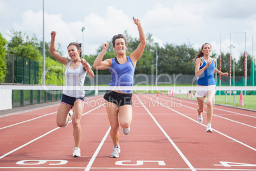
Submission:
{"label": "trailing woman in blue tank top and white shorts", "polygon": [[[217,72],[222,76],[228,76],[227,72],[218,71],[215,68],[215,58],[210,58],[211,45],[209,43],[204,43],[201,50],[197,53],[195,75],[197,79],[197,86],[215,86],[215,79],[213,72]],[[203,123],[202,113],[204,111],[204,100],[207,95],[207,126],[206,132],[213,132],[211,129],[211,120],[213,118],[213,98],[215,96],[215,90],[197,90],[196,97],[198,102],[197,108],[197,121]]]}

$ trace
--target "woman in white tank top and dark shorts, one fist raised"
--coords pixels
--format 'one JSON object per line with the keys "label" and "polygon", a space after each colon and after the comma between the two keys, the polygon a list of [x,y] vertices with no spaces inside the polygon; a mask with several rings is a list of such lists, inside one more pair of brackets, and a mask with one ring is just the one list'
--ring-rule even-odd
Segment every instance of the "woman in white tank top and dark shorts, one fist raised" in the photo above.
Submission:
{"label": "woman in white tank top and dark shorts, one fist raised", "polygon": [[[90,78],[94,78],[94,72],[90,69],[90,65],[82,57],[82,44],[69,43],[68,45],[68,55],[71,58],[62,57],[55,50],[55,36],[56,32],[51,32],[51,44],[50,53],[59,62],[66,66],[65,76],[66,76],[66,86],[83,86],[85,81],[85,76],[88,73]],[[82,137],[82,128],[80,125],[80,120],[83,114],[85,100],[85,91],[74,90],[67,88],[62,92],[62,99],[57,112],[57,125],[58,127],[67,127],[69,121],[72,119],[73,123],[73,136],[75,139],[75,148],[73,149],[73,157],[80,157],[80,141]],[[73,108],[73,111],[71,109]]]}

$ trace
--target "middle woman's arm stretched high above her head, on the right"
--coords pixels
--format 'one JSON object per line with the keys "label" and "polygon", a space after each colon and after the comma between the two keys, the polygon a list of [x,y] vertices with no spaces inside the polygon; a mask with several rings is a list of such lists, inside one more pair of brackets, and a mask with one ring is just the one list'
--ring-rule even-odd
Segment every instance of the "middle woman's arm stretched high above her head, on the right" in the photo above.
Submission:
{"label": "middle woman's arm stretched high above her head, on the right", "polygon": [[138,18],[132,18],[134,24],[137,25],[138,27],[138,31],[139,31],[139,46],[137,47],[137,49],[135,51],[133,51],[130,55],[132,62],[137,62],[139,60],[139,58],[141,57],[145,46],[146,46],[146,36],[144,34],[143,28],[141,26],[141,22],[139,21]]}

